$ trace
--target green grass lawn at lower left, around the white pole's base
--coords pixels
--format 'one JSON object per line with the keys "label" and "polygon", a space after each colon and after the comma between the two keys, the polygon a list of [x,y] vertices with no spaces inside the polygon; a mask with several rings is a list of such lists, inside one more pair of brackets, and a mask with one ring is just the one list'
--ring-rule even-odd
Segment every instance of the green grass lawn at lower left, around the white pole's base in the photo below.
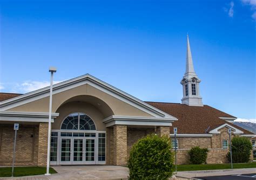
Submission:
{"label": "green grass lawn at lower left, around the white pole's base", "polygon": [[[46,173],[45,167],[15,167],[14,176],[32,176],[32,175],[43,175]],[[54,169],[50,168],[50,174],[57,173]],[[0,168],[0,177],[10,177],[11,167]]]}

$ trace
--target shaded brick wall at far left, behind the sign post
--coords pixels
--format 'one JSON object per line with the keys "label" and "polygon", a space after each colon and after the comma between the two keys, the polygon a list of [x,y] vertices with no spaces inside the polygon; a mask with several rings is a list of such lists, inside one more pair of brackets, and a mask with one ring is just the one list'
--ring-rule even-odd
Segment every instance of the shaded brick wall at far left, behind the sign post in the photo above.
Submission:
{"label": "shaded brick wall at far left, behind the sign post", "polygon": [[[11,165],[15,131],[13,125],[0,126],[0,165]],[[38,127],[19,125],[15,165],[37,165]]]}

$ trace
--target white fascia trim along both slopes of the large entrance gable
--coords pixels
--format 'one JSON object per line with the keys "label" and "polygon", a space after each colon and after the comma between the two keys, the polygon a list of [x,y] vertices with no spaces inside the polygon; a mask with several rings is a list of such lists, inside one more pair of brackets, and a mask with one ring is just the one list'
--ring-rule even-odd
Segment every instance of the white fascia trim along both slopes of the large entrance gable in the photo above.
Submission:
{"label": "white fascia trim along both slopes of the large entrance gable", "polygon": [[[106,93],[110,94],[111,96],[116,97],[119,100],[122,100],[122,101],[138,108],[139,110],[147,112],[147,113],[151,114],[152,116],[177,119],[177,118],[171,116],[170,114],[167,114],[167,113],[157,109],[156,107],[153,107],[153,106],[143,102],[142,100],[140,100],[136,97],[133,97],[133,96],[129,95],[128,93],[126,93],[122,90],[119,90],[119,89],[113,87],[112,85],[107,84],[89,74],[79,76],[76,78],[72,78],[71,80],[67,80],[67,81],[60,82],[58,84],[53,85],[52,93],[53,93],[53,95],[55,95],[56,93],[66,91],[66,90],[69,90],[72,88],[76,88],[76,87],[79,87],[80,85],[84,85],[84,84],[89,84],[92,87],[102,90],[103,92],[106,92]],[[5,110],[8,110],[8,109],[11,109],[11,108],[14,108],[14,107],[26,104],[26,103],[33,102],[38,99],[42,99],[44,97],[48,97],[49,94],[50,94],[50,87],[45,87],[45,88],[42,88],[42,89],[39,89],[36,91],[26,93],[21,96],[17,96],[17,97],[11,98],[11,99],[4,100],[3,102],[0,102],[0,111],[5,111]]]}

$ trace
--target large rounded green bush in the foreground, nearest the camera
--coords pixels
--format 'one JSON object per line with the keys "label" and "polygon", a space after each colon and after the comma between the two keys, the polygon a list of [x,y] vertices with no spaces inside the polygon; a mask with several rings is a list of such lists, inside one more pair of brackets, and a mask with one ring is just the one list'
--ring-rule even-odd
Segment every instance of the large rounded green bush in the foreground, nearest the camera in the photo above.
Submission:
{"label": "large rounded green bush in the foreground, nearest the camera", "polygon": [[168,179],[173,174],[170,137],[151,134],[132,146],[128,160],[129,179]]}

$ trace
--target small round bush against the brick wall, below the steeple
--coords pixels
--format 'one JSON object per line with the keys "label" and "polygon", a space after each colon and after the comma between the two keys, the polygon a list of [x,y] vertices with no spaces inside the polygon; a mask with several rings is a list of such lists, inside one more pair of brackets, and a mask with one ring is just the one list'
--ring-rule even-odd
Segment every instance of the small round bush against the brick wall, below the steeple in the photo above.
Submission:
{"label": "small round bush against the brick wall, below the steeple", "polygon": [[192,164],[206,163],[207,153],[207,148],[200,148],[199,146],[192,147],[188,151],[188,154],[190,155],[190,162]]}

